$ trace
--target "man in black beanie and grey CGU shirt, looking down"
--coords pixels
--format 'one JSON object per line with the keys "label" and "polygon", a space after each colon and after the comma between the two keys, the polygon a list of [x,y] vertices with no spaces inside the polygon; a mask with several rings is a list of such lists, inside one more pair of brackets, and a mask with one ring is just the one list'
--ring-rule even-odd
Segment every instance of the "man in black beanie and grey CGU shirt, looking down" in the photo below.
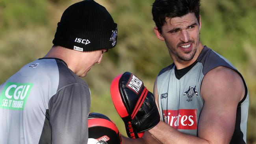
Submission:
{"label": "man in black beanie and grey CGU shirt, looking down", "polygon": [[116,42],[105,7],[93,0],[68,7],[48,54],[0,86],[0,144],[87,144],[91,95],[79,77]]}

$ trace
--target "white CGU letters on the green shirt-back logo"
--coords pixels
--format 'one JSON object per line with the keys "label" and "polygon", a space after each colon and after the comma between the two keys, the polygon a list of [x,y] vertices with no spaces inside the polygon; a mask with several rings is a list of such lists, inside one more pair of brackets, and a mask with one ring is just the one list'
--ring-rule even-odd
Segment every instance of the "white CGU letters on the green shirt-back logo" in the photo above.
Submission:
{"label": "white CGU letters on the green shirt-back logo", "polygon": [[14,98],[15,100],[24,100],[29,89],[30,85],[10,85],[9,87],[7,87],[5,95],[6,98],[9,99]]}

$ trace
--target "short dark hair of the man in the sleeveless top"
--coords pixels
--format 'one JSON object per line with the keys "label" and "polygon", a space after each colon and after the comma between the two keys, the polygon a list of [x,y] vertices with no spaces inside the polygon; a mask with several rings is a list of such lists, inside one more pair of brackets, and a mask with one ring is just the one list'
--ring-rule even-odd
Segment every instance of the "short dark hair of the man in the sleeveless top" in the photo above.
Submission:
{"label": "short dark hair of the man in the sleeveless top", "polygon": [[194,13],[199,23],[199,7],[200,0],[155,0],[152,5],[153,20],[160,32],[166,17],[182,17]]}

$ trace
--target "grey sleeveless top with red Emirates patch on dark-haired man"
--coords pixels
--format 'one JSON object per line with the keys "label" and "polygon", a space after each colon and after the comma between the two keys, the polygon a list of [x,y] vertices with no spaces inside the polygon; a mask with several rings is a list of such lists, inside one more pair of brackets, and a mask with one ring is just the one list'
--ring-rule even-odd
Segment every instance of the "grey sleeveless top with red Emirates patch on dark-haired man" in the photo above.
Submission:
{"label": "grey sleeveless top with red Emirates patch on dark-haired man", "polygon": [[[206,46],[181,78],[176,78],[174,64],[163,68],[157,78],[161,120],[182,133],[197,136],[198,120],[204,105],[200,94],[201,82],[206,73],[217,66],[231,68],[241,76],[230,62]],[[230,143],[246,143],[249,94],[244,79],[243,82],[245,96],[237,107],[236,126]]]}

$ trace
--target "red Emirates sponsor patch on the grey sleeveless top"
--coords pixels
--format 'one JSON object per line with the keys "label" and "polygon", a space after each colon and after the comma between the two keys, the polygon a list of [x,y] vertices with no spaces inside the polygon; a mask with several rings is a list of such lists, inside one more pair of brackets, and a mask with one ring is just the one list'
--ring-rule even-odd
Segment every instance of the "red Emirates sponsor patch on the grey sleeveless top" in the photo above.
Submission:
{"label": "red Emirates sponsor patch on the grey sleeveless top", "polygon": [[163,110],[163,118],[175,129],[197,129],[196,109]]}

